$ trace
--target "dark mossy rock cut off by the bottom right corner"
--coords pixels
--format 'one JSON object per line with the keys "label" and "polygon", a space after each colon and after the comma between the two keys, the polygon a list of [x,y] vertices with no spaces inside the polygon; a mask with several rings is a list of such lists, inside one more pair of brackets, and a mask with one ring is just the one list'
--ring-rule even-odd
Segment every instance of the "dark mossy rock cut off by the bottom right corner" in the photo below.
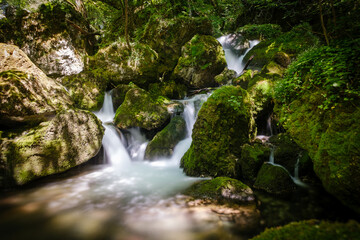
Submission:
{"label": "dark mossy rock cut off by the bottom right corner", "polygon": [[266,229],[252,240],[310,240],[310,239],[359,239],[360,224],[356,221],[347,223],[307,220]]}

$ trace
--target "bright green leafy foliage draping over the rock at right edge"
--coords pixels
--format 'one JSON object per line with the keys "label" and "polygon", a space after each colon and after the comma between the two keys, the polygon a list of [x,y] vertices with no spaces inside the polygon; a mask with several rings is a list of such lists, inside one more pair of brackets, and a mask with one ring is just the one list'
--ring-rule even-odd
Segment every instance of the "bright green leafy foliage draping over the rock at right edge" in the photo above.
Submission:
{"label": "bright green leafy foliage draping over the rock at right edge", "polygon": [[360,98],[359,40],[312,48],[293,62],[276,85],[276,98],[290,103],[304,92],[321,89],[325,93],[319,108],[327,110],[342,102]]}

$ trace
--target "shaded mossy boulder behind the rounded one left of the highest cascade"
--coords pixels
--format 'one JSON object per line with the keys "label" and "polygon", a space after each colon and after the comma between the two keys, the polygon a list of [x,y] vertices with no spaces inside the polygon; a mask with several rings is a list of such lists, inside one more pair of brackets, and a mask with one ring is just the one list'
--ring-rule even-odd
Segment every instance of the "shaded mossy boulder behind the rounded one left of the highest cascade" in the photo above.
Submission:
{"label": "shaded mossy boulder behind the rounded one left of the highest cascade", "polygon": [[211,35],[212,26],[207,18],[176,17],[150,18],[141,42],[158,53],[159,72],[171,73],[181,54],[182,46],[196,34]]}

